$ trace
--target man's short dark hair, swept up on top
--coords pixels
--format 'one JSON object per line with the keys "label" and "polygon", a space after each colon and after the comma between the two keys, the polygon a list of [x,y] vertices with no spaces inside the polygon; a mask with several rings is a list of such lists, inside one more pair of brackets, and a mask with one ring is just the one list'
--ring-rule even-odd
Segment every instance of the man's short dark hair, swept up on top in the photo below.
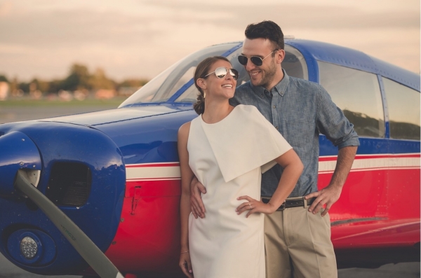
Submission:
{"label": "man's short dark hair, swept up on top", "polygon": [[270,20],[247,25],[244,34],[247,39],[268,39],[274,45],[274,50],[284,47],[281,27]]}

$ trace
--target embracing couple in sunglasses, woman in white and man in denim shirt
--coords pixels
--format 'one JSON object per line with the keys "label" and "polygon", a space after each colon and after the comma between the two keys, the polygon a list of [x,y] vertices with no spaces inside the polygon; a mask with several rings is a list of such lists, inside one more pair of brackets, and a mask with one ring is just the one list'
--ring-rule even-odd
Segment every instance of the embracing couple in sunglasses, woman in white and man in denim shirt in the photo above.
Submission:
{"label": "embracing couple in sunglasses, woman in white and man in denim shirt", "polygon": [[[337,277],[327,213],[358,137],[326,90],[281,69],[278,25],[245,33],[239,62],[248,83],[236,88],[238,72],[224,57],[203,60],[194,74],[199,117],[178,133],[180,267],[196,278]],[[321,191],[319,132],[339,148]]]}

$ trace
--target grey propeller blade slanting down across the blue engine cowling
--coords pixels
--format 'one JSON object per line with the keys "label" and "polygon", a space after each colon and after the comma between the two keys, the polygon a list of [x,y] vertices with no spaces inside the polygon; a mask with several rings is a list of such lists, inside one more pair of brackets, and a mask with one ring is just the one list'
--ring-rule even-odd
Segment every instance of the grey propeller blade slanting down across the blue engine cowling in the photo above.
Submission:
{"label": "grey propeller blade slanting down across the blue engine cowling", "polygon": [[58,230],[73,245],[74,249],[79,252],[82,258],[86,260],[86,263],[91,265],[101,278],[123,278],[123,275],[112,264],[111,260],[102,253],[92,240],[29,182],[27,174],[22,169],[18,170],[15,187],[27,195],[50,218]]}

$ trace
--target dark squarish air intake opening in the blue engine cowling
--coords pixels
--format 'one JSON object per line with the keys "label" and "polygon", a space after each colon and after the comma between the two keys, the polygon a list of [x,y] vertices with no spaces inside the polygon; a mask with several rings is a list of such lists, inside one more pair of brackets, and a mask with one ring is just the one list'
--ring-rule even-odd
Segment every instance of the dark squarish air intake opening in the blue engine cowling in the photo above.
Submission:
{"label": "dark squarish air intake opening in the blue engine cowling", "polygon": [[81,207],[91,191],[91,170],[76,162],[57,162],[51,169],[46,196],[58,206]]}

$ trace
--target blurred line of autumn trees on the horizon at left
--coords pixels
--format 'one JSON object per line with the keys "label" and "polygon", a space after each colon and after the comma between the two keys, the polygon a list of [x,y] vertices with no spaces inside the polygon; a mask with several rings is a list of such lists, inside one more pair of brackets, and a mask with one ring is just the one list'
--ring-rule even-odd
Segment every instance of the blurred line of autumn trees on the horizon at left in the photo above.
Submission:
{"label": "blurred line of autumn trees on the horizon at left", "polygon": [[61,90],[75,91],[75,90],[116,90],[120,88],[131,87],[139,88],[145,85],[148,80],[141,79],[126,79],[121,82],[116,82],[107,77],[103,69],[95,69],[93,73],[89,72],[88,67],[83,64],[72,64],[69,74],[64,79],[56,79],[53,81],[45,81],[39,78],[33,78],[29,82],[19,82],[18,78],[9,80],[6,76],[0,75],[0,82],[5,81],[9,83],[10,91],[32,92],[39,90],[44,93],[57,93]]}

